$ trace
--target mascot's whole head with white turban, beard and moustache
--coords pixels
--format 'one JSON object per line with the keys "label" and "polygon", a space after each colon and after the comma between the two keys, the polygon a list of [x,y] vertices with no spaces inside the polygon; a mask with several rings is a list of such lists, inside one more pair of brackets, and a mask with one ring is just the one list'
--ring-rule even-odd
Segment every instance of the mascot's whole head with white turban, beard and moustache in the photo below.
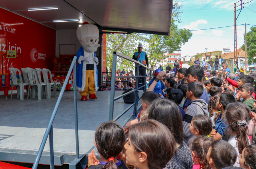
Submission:
{"label": "mascot's whole head with white turban, beard and moustache", "polygon": [[76,30],[76,36],[84,48],[89,52],[95,52],[100,47],[99,42],[99,29],[93,24],[84,22],[82,26],[79,26]]}

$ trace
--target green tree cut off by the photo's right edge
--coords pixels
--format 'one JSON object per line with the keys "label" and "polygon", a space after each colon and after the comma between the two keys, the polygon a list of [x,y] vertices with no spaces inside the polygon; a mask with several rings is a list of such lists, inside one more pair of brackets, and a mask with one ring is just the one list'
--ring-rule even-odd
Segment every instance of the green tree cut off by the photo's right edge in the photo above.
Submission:
{"label": "green tree cut off by the photo's right edge", "polygon": [[[256,63],[256,27],[251,27],[251,31],[249,31],[247,34],[247,55],[249,63],[254,62]],[[245,37],[245,34],[244,34]],[[245,43],[245,38],[244,38]],[[245,44],[242,46],[242,50],[245,51]]]}

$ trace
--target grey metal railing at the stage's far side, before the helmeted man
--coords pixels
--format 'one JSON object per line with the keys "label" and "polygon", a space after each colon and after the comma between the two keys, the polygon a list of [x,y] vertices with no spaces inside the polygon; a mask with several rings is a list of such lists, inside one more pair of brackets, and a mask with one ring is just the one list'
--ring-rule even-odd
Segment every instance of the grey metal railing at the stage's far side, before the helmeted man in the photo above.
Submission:
{"label": "grey metal railing at the stage's far side, before the helmeted man", "polygon": [[[119,52],[117,51],[114,51],[113,52],[113,63],[112,63],[112,71],[113,72],[116,72],[116,66],[117,66],[117,57],[120,57],[120,58],[123,58],[123,59],[126,59],[126,60],[129,60],[131,62],[134,62],[134,63],[137,63],[137,65],[139,66],[142,66],[142,67],[145,67],[146,69],[149,69],[151,71],[154,71],[153,69],[150,69],[149,67],[141,64],[140,62],[128,57],[128,56],[125,56],[123,54],[120,54]],[[150,71],[150,75],[149,76],[138,76],[139,75],[139,66],[137,67],[137,70],[136,70],[136,75],[137,76],[116,76],[116,74],[112,74],[112,79],[115,79],[116,78],[123,78],[123,77],[127,77],[127,78],[131,78],[131,77],[135,77],[136,78],[136,83],[135,83],[135,89],[130,91],[130,92],[127,92],[125,94],[122,94],[121,96],[118,96],[115,98],[115,83],[111,83],[111,90],[110,90],[110,101],[109,101],[109,115],[108,115],[108,120],[113,120],[113,121],[117,121],[123,114],[125,114],[130,108],[132,108],[132,106],[134,107],[133,109],[133,115],[136,115],[138,110],[137,110],[137,107],[138,107],[138,101],[140,100],[139,97],[138,97],[138,90],[140,88],[143,88],[145,87],[146,85],[143,85],[141,87],[138,88],[138,84],[139,84],[139,77],[150,77],[150,80],[151,80],[151,71]],[[144,79],[144,84],[146,84],[146,78]],[[144,88],[144,91],[145,88]],[[132,105],[130,105],[128,108],[126,108],[122,113],[120,113],[115,119],[113,119],[113,115],[114,115],[114,102],[124,96],[126,96],[127,94],[130,94],[132,92],[135,92],[135,99],[134,99],[134,103]]]}

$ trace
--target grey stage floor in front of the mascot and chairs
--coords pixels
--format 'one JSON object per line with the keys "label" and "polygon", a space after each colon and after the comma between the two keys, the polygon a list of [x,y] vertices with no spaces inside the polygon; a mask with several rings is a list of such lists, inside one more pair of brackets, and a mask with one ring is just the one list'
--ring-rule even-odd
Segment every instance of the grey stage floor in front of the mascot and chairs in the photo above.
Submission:
{"label": "grey stage floor in front of the mascot and chairs", "polygon": [[[123,91],[115,91],[115,97]],[[57,92],[57,95],[59,92]],[[139,97],[143,94],[140,90]],[[49,123],[57,98],[19,100],[16,94],[0,96],[0,161],[34,163],[37,151]],[[94,132],[99,124],[108,121],[110,91],[97,91],[97,100],[80,101],[78,95],[78,128],[80,154],[95,148]],[[53,93],[52,93],[53,97]],[[54,164],[69,164],[75,159],[75,125],[73,91],[65,91],[53,122]],[[138,106],[141,104],[141,100]],[[115,101],[114,118],[131,104],[123,99]],[[133,108],[117,122],[124,126],[132,117]],[[50,164],[49,140],[46,142],[39,164]]]}

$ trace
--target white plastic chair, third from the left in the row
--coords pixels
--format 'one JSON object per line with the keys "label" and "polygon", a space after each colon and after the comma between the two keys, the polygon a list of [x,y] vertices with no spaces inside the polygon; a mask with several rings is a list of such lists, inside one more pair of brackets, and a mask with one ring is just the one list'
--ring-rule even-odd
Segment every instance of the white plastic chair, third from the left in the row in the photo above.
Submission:
{"label": "white plastic chair, third from the left in the row", "polygon": [[[29,77],[29,88],[30,88],[30,86],[37,87],[38,100],[41,100],[42,99],[42,86],[46,86],[46,84],[45,83],[39,83],[39,79],[38,79],[37,72],[36,72],[35,69],[32,69],[30,67],[26,67],[26,69],[27,69],[28,77]],[[33,89],[33,92],[34,91],[35,90]],[[33,93],[33,96],[35,96],[34,93]],[[29,94],[28,94],[28,98],[29,98]]]}

